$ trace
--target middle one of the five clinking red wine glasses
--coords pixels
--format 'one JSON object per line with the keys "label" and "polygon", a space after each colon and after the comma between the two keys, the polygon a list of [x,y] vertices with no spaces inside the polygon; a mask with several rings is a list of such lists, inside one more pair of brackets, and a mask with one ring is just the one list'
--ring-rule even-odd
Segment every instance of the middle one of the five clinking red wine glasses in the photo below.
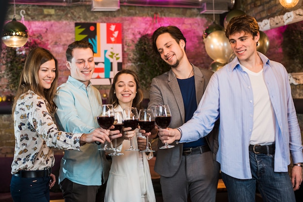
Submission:
{"label": "middle one of the five clinking red wine glasses", "polygon": [[[138,121],[138,111],[136,107],[125,107],[123,109],[123,127],[131,127],[132,130],[137,128],[137,121]],[[133,138],[132,138],[133,139]],[[125,151],[139,151],[133,146],[133,141],[131,139],[131,146],[129,149]]]}

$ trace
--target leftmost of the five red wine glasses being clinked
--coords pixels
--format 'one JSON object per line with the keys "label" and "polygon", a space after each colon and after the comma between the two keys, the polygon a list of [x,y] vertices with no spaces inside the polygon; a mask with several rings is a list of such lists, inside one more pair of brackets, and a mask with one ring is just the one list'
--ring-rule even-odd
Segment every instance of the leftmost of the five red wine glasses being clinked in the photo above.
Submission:
{"label": "leftmost of the five red wine glasses being clinked", "polygon": [[[99,126],[102,129],[109,129],[114,123],[115,114],[114,114],[114,106],[112,104],[99,104],[99,115],[97,116],[97,121]],[[114,148],[110,148],[107,146],[107,141],[104,143],[103,148],[99,148],[99,150],[112,152]]]}

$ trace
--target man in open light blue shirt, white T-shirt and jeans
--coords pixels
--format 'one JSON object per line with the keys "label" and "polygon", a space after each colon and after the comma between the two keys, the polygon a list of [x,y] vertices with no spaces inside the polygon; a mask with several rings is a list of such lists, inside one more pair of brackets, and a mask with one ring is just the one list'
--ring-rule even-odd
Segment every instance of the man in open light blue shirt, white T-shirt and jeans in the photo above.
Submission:
{"label": "man in open light blue shirt, white T-shirt and jeans", "polygon": [[[288,73],[257,52],[255,18],[232,18],[226,36],[236,58],[212,75],[193,118],[177,129],[159,129],[160,139],[197,140],[220,118],[217,161],[228,200],[255,202],[257,186],[266,202],[295,202],[303,153]],[[289,156],[294,163],[291,180]]]}

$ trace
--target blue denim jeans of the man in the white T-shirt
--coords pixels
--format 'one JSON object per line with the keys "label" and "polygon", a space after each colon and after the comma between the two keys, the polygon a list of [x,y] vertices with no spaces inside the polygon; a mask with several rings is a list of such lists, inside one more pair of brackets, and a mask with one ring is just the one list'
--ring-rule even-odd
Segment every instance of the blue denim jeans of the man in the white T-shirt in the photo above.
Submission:
{"label": "blue denim jeans of the man in the white T-shirt", "polygon": [[274,155],[250,151],[249,158],[252,179],[237,179],[222,173],[229,202],[255,202],[256,188],[264,202],[296,202],[288,173],[273,172]]}

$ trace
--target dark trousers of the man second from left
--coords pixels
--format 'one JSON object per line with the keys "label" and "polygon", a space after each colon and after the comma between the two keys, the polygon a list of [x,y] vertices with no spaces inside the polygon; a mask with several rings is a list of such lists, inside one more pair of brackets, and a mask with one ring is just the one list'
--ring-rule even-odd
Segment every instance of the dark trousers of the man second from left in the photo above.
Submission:
{"label": "dark trousers of the man second from left", "polygon": [[106,183],[101,186],[85,186],[65,178],[60,183],[65,202],[104,202]]}

